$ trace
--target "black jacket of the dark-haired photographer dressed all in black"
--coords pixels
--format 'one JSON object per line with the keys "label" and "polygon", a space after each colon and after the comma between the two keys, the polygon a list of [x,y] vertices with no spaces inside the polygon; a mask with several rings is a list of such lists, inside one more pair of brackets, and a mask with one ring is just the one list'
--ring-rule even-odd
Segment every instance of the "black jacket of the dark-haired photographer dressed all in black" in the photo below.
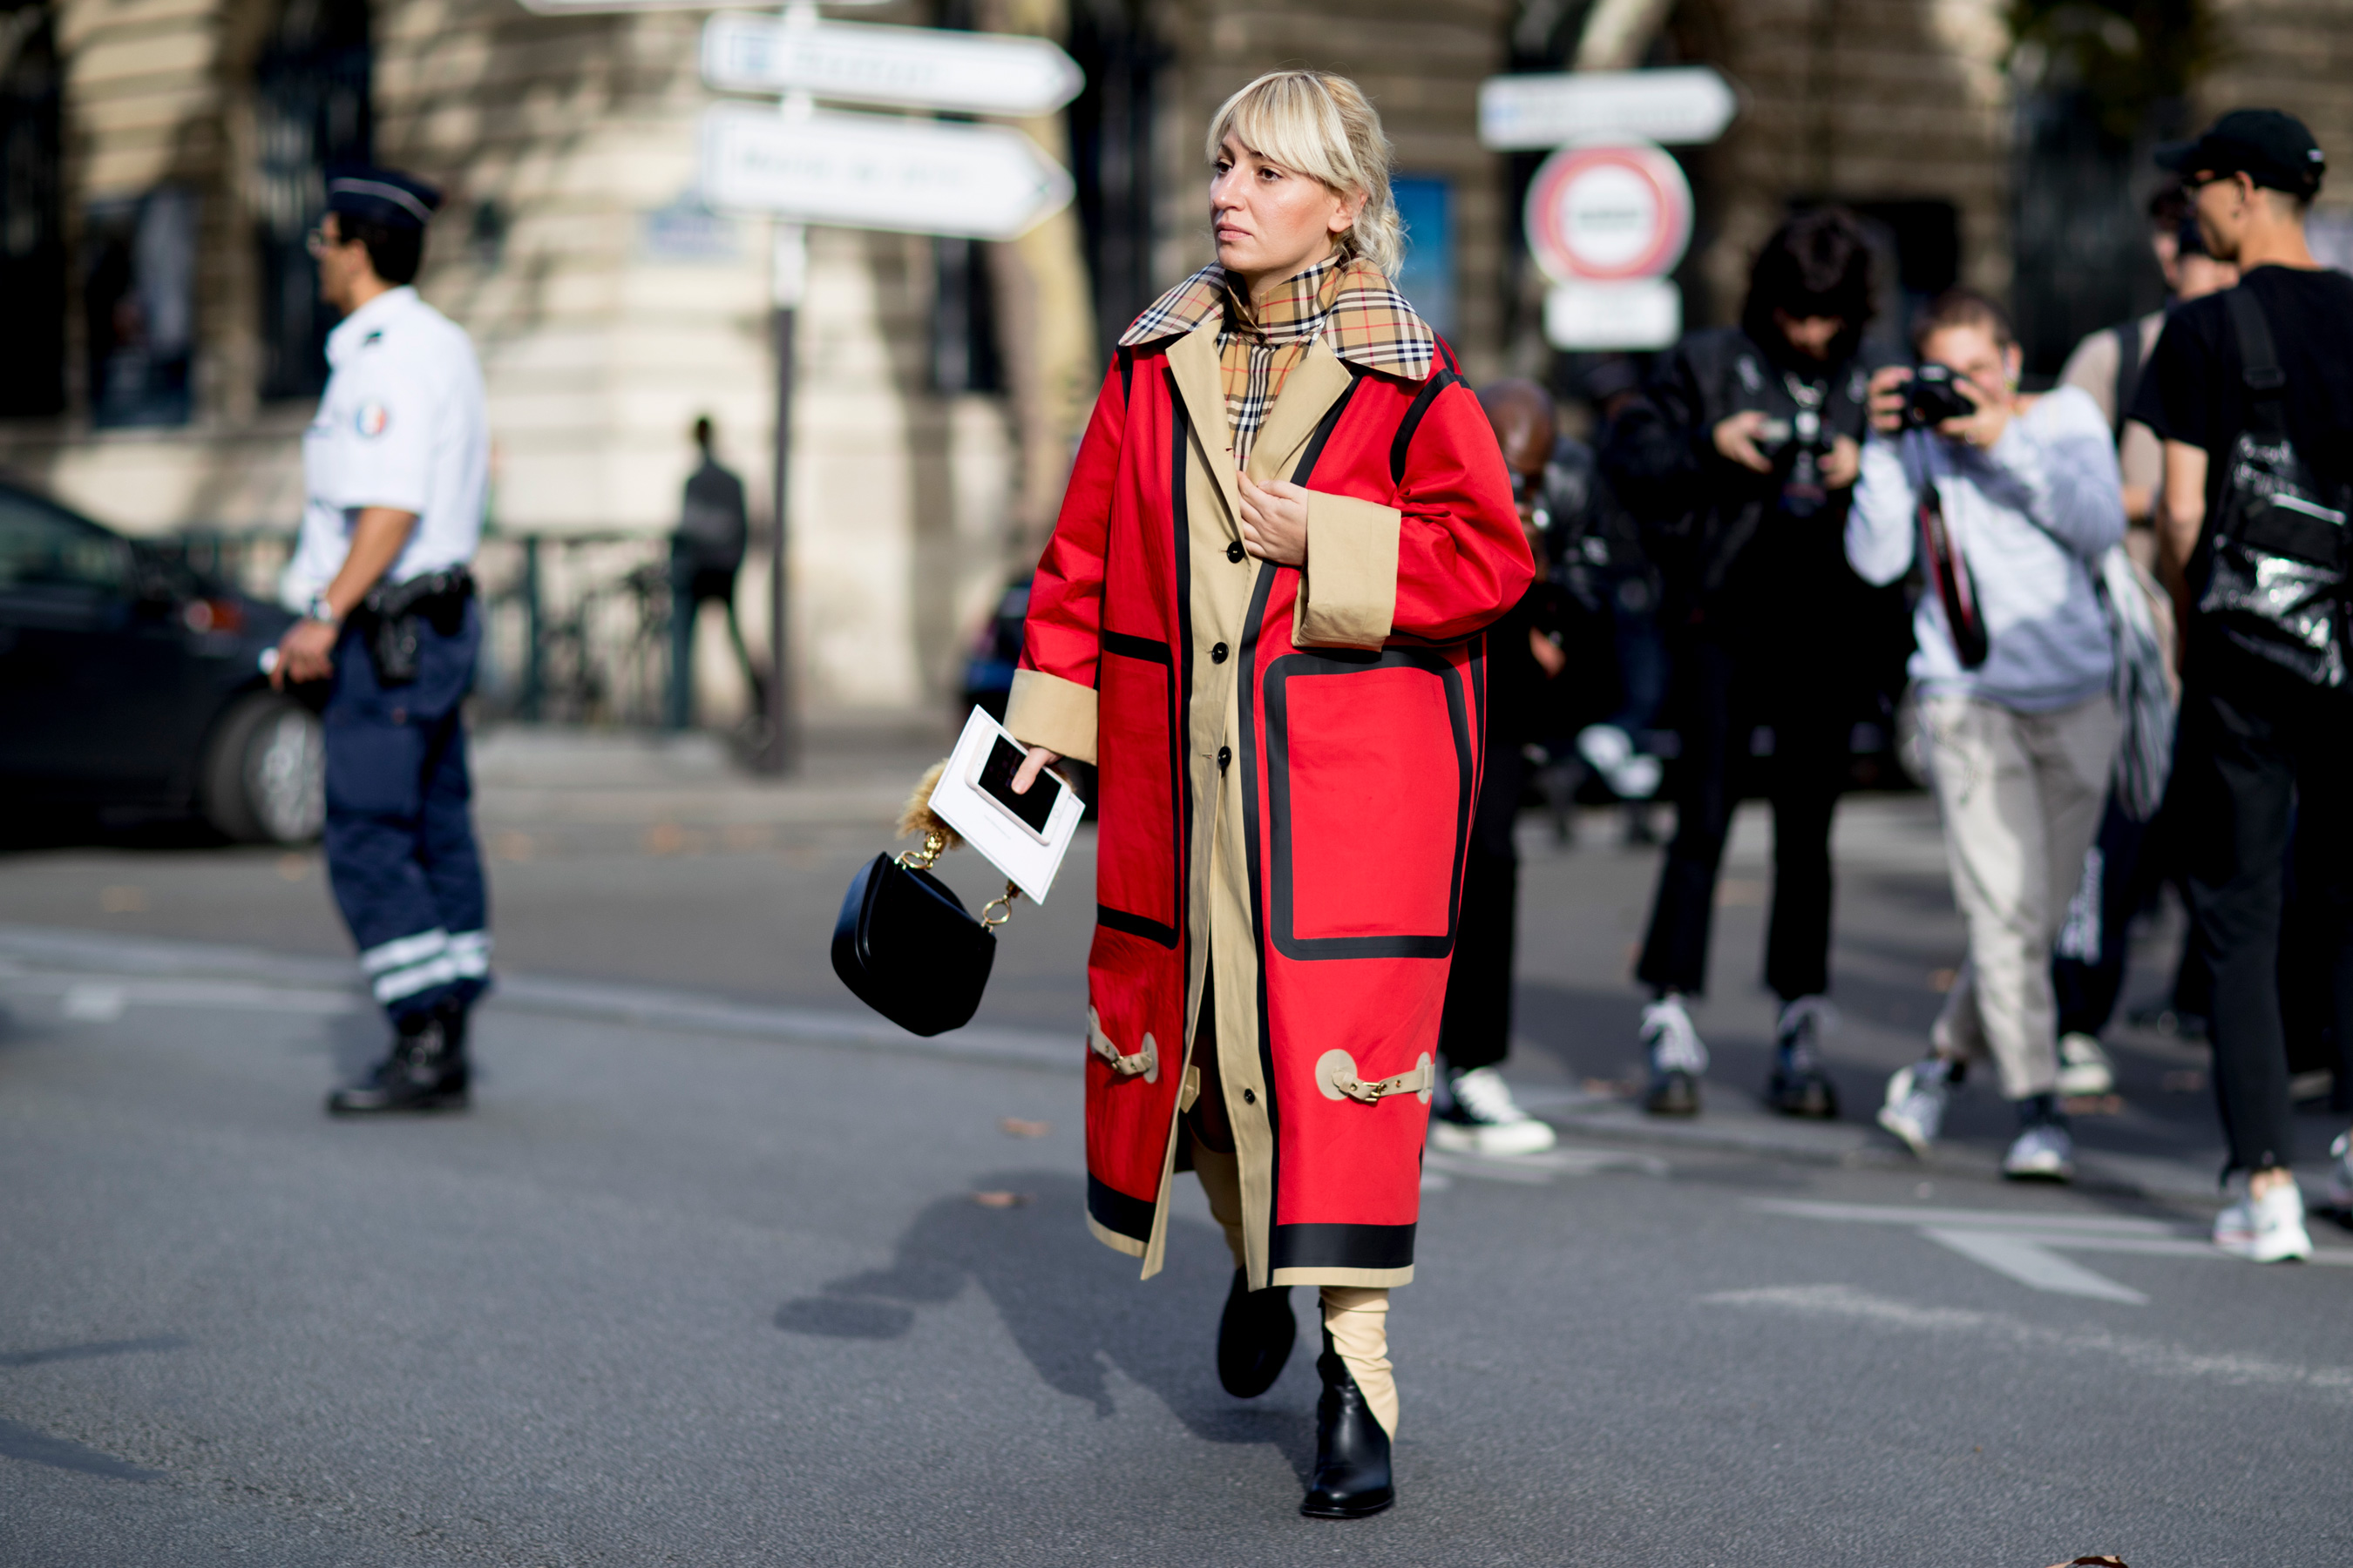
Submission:
{"label": "black jacket of the dark-haired photographer dressed all in black", "polygon": [[1619,411],[1602,442],[1602,475],[1642,522],[1666,588],[1666,630],[1805,625],[1861,588],[1845,550],[1852,491],[1828,491],[1809,515],[1795,515],[1786,494],[1795,451],[1760,475],[1715,451],[1715,425],[1748,409],[1795,421],[1795,378],[1821,388],[1824,442],[1861,440],[1871,369],[1868,355],[1842,364],[1777,360],[1737,327],[1694,331]]}

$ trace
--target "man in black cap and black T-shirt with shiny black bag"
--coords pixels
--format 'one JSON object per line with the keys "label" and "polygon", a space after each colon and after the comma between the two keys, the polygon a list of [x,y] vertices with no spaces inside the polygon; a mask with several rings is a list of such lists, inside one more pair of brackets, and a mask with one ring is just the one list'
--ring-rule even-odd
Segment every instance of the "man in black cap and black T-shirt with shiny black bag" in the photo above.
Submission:
{"label": "man in black cap and black T-shirt with shiny black bag", "polygon": [[2214,978],[2228,1171],[2245,1175],[2214,1241],[2275,1262],[2311,1253],[2278,983],[2292,839],[2304,907],[2327,926],[2306,940],[2334,976],[2339,1041],[2353,1023],[2353,277],[2306,247],[2325,160],[2292,115],[2233,110],[2160,165],[2240,268],[2240,287],[2165,322],[2132,414],[2165,440],[2158,534],[2186,628],[2174,788],[2200,823],[2184,844],[2191,940]]}

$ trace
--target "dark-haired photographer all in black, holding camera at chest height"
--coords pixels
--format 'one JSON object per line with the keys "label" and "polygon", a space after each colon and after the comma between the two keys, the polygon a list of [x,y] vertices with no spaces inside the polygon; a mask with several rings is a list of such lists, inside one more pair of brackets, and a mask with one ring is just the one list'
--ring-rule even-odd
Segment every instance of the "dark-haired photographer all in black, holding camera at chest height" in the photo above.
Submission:
{"label": "dark-haired photographer all in black, holding camera at chest height", "polygon": [[1602,470],[1652,536],[1666,581],[1682,757],[1675,839],[1635,976],[1652,1114],[1699,1110],[1706,1046],[1682,1006],[1706,987],[1708,922],[1732,809],[1769,726],[1774,900],[1765,983],[1781,999],[1774,1110],[1835,1117],[1817,1058],[1833,1013],[1831,811],[1859,715],[1857,623],[1868,590],[1847,567],[1873,364],[1871,249],[1842,209],[1786,221],[1755,261],[1739,327],[1697,331],[1612,423]]}

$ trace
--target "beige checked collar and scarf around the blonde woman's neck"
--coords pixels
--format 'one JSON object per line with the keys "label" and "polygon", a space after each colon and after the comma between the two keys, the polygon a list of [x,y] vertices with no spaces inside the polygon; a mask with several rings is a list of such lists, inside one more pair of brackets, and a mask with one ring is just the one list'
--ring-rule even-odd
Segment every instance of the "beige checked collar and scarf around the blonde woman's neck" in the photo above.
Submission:
{"label": "beige checked collar and scarf around the blonde woman's neck", "polygon": [[1193,331],[1224,313],[1217,364],[1226,393],[1233,461],[1247,463],[1282,383],[1325,339],[1334,355],[1362,369],[1424,381],[1438,360],[1438,334],[1414,315],[1388,277],[1358,259],[1329,259],[1287,280],[1252,308],[1242,282],[1212,263],[1162,294],[1120,336],[1122,348]]}

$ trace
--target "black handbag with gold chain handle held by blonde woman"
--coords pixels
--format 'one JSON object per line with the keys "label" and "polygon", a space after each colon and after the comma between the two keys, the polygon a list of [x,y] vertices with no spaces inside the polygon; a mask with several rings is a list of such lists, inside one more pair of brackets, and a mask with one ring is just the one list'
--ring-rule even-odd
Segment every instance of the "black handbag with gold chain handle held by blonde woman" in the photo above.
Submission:
{"label": "black handbag with gold chain handle held by blonde woman", "polygon": [[[833,922],[833,973],[908,1034],[972,1023],[998,957],[995,926],[1019,896],[1007,884],[974,919],[929,870],[946,846],[941,832],[927,832],[922,849],[875,856],[849,879]],[[1000,905],[1002,912],[991,914]]]}

